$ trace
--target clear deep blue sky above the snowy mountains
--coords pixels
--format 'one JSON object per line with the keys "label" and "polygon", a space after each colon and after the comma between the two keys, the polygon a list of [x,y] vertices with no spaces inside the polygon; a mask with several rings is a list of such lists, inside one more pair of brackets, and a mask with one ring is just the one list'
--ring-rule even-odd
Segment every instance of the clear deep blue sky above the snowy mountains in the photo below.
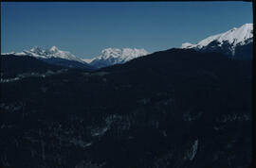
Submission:
{"label": "clear deep blue sky above the snowy mountains", "polygon": [[1,52],[56,45],[80,58],[108,47],[149,52],[252,23],[249,2],[1,3]]}

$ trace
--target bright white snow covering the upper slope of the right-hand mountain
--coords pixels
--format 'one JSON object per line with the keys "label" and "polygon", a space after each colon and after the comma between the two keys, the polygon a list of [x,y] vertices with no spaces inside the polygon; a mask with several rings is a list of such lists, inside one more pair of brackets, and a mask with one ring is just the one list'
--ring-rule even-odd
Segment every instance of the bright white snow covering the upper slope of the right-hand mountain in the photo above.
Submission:
{"label": "bright white snow covering the upper slope of the right-hand mountain", "polygon": [[247,44],[247,42],[252,42],[252,37],[253,37],[252,31],[253,31],[253,24],[245,24],[240,26],[239,28],[234,27],[224,33],[210,36],[196,44],[192,44],[190,42],[182,43],[180,48],[201,49],[204,46],[209,45],[210,42],[214,42],[214,41],[220,42],[218,44],[219,46],[222,46],[224,42],[229,42],[232,48],[234,48],[238,44],[244,45],[244,44]]}

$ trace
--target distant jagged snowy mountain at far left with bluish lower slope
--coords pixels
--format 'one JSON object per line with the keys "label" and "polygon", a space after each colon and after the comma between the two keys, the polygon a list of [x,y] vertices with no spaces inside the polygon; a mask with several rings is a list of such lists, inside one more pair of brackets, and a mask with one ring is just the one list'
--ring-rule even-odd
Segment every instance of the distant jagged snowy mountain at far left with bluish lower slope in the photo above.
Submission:
{"label": "distant jagged snowy mountain at far left with bluish lower slope", "polygon": [[94,69],[94,67],[87,64],[82,59],[77,58],[70,52],[59,50],[56,46],[52,46],[51,48],[46,50],[35,46],[30,50],[24,50],[21,53],[12,52],[4,53],[2,55],[30,56],[37,59],[42,59],[47,63],[61,65],[65,67]]}

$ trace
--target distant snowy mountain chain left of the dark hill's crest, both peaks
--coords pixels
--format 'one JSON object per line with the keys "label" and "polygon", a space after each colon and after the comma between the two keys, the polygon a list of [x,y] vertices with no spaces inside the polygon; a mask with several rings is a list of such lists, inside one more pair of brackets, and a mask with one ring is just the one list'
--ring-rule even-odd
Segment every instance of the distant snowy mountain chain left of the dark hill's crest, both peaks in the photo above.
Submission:
{"label": "distant snowy mountain chain left of the dark hill's crest, both peaks", "polygon": [[67,67],[96,69],[119,63],[125,63],[131,59],[148,55],[145,49],[137,48],[106,48],[101,51],[101,55],[93,59],[80,59],[70,52],[62,51],[56,46],[49,49],[42,49],[38,46],[30,50],[24,50],[21,53],[3,53],[2,55],[30,56],[37,59],[45,60],[48,63],[63,65]]}

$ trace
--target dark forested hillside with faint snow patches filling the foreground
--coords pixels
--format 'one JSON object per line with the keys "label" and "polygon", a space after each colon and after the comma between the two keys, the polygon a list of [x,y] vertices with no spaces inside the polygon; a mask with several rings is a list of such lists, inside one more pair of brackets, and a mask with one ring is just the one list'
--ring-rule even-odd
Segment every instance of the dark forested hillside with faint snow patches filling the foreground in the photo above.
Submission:
{"label": "dark forested hillside with faint snow patches filling the foreground", "polygon": [[[13,71],[27,72],[25,65]],[[43,76],[34,63],[29,72],[41,76],[2,77],[3,167],[250,164],[249,60],[171,49],[95,72],[55,68]],[[12,66],[1,66],[7,72]]]}

